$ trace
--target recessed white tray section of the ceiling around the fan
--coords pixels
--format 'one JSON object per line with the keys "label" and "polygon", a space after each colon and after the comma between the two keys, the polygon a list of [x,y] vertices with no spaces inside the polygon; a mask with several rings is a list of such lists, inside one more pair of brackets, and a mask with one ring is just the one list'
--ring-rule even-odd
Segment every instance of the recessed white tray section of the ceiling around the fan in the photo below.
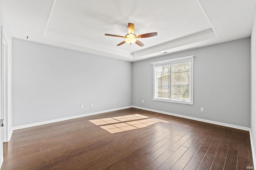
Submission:
{"label": "recessed white tray section of the ceiling around the fan", "polygon": [[[116,46],[124,38],[104,35],[125,36],[129,22],[134,23],[136,35],[158,35],[140,39],[144,47],[127,43]],[[44,37],[130,57],[130,52],[145,51],[209,29],[212,27],[197,0],[56,0]]]}

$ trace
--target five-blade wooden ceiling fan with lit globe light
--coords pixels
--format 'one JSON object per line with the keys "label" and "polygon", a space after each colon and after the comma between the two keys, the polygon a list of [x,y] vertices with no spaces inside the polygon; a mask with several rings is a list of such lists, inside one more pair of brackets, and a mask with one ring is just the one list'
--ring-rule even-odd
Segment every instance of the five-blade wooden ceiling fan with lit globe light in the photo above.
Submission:
{"label": "five-blade wooden ceiling fan with lit globe light", "polygon": [[119,43],[116,46],[122,45],[124,43],[128,43],[128,44],[136,43],[140,47],[144,46],[144,44],[141,41],[139,41],[137,38],[147,38],[147,37],[153,37],[153,36],[157,35],[157,32],[154,32],[154,33],[141,34],[141,35],[137,36],[137,35],[134,34],[134,24],[133,23],[128,23],[127,29],[128,29],[128,34],[126,34],[125,36],[113,35],[113,34],[105,34],[105,35],[112,36],[112,37],[125,38],[124,41],[122,41],[121,43]]}

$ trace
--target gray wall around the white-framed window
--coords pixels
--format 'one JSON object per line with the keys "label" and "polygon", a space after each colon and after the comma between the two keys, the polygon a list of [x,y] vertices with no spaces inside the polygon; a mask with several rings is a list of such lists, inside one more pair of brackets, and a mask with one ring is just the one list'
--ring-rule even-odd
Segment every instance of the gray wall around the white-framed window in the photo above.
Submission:
{"label": "gray wall around the white-framed window", "polygon": [[[153,101],[151,63],[190,55],[195,56],[194,105]],[[250,127],[250,38],[138,61],[132,66],[133,106]]]}

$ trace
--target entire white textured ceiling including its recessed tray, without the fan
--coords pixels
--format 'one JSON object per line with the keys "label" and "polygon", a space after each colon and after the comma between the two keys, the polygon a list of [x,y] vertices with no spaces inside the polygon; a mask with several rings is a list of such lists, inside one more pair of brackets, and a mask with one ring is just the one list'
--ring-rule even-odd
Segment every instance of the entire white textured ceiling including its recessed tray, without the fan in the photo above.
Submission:
{"label": "entire white textured ceiling including its recessed tray, without the fan", "polygon": [[[249,37],[256,0],[1,0],[13,37],[138,61]],[[127,24],[145,45],[123,44]],[[131,55],[132,53],[132,55]]]}

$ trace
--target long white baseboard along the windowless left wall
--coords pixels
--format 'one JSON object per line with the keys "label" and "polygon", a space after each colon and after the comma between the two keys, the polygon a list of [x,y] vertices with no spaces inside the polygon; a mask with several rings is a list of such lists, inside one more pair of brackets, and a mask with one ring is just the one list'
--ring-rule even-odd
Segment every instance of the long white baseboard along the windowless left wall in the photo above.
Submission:
{"label": "long white baseboard along the windowless left wall", "polygon": [[106,113],[106,112],[109,112],[109,111],[116,111],[116,110],[121,110],[121,109],[127,109],[127,108],[130,108],[130,107],[132,107],[132,106],[121,107],[121,108],[110,109],[110,110],[104,110],[104,111],[98,111],[98,112],[94,112],[94,113],[87,113],[87,114],[84,114],[84,115],[77,115],[77,116],[72,116],[72,117],[65,117],[65,118],[61,118],[61,119],[54,119],[54,120],[50,120],[50,121],[42,121],[42,122],[32,123],[32,124],[28,124],[28,125],[15,126],[15,127],[12,127],[12,129],[13,130],[24,129],[24,128],[27,128],[27,127],[33,127],[33,126],[38,126],[38,125],[45,125],[45,124],[48,124],[48,123],[55,123],[55,122],[58,122],[58,121],[64,121],[64,120],[75,119],[75,118],[79,118],[79,117],[96,115],[96,114],[100,114],[100,113]]}

